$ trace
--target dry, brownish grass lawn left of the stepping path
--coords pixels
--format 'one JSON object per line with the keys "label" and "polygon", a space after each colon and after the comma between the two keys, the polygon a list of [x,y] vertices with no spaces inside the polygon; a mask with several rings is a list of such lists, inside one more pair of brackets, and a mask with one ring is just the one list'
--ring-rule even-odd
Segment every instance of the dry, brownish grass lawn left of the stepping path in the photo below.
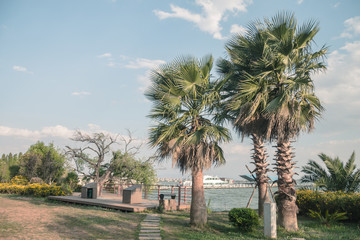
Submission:
{"label": "dry, brownish grass lawn left of the stepping path", "polygon": [[0,194],[0,239],[137,239],[144,214]]}

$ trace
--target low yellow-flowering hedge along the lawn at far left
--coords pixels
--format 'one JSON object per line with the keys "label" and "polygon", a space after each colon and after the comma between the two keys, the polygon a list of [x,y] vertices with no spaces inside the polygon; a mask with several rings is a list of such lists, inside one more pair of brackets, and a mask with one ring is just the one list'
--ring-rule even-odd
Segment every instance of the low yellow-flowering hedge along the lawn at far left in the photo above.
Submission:
{"label": "low yellow-flowering hedge along the lawn at far left", "polygon": [[48,184],[18,185],[11,183],[0,183],[0,193],[34,195],[36,197],[65,196],[68,194],[61,186]]}

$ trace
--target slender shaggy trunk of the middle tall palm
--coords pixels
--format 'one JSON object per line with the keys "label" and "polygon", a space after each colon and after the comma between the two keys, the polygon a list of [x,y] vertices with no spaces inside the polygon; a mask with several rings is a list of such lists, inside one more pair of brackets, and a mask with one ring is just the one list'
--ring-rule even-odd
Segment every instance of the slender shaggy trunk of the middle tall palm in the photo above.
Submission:
{"label": "slender shaggy trunk of the middle tall palm", "polygon": [[258,192],[259,192],[259,200],[258,200],[258,209],[259,216],[264,217],[264,203],[270,202],[269,192],[267,191],[267,183],[268,183],[268,165],[269,163],[266,161],[267,155],[264,148],[264,141],[261,137],[256,134],[252,134],[252,140],[254,144],[254,153],[253,160],[255,162],[255,173],[256,173],[256,182],[258,184]]}

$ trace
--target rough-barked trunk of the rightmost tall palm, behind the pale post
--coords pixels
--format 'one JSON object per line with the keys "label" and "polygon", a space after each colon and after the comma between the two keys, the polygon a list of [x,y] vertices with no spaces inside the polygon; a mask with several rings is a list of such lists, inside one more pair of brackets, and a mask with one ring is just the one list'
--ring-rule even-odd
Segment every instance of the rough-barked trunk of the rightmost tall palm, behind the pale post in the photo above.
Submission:
{"label": "rough-barked trunk of the rightmost tall palm, behind the pale post", "polygon": [[278,141],[276,152],[276,170],[278,174],[278,222],[285,230],[298,230],[295,181],[293,179],[294,165],[292,161],[291,144],[289,140]]}

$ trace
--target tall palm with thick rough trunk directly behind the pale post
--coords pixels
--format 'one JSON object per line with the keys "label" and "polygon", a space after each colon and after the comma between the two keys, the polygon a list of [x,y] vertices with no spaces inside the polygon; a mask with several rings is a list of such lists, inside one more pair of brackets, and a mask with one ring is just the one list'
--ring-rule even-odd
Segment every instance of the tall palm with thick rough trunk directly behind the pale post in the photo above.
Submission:
{"label": "tall palm with thick rough trunk directly behind the pale post", "polygon": [[262,77],[271,78],[274,87],[264,110],[270,129],[277,138],[276,170],[278,174],[279,221],[286,230],[296,231],[295,162],[291,140],[301,131],[311,131],[323,107],[314,94],[311,75],[325,66],[322,58],[326,47],[313,52],[311,43],[319,31],[318,23],[308,21],[297,26],[293,14],[280,13],[265,20],[269,55],[262,64],[270,71]]}

